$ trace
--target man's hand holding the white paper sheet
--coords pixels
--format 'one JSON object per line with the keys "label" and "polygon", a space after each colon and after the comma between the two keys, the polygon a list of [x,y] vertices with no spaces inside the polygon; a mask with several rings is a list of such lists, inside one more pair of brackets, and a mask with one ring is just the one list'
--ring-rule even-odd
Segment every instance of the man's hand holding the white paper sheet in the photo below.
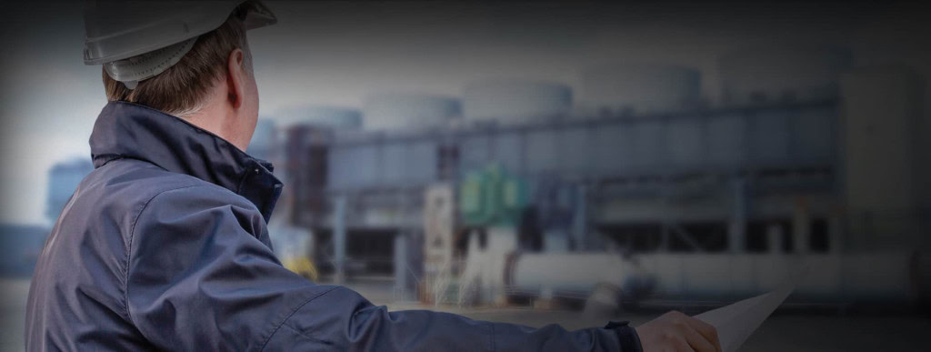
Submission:
{"label": "man's hand holding the white paper sheet", "polygon": [[721,352],[718,331],[680,312],[668,312],[635,328],[643,352]]}

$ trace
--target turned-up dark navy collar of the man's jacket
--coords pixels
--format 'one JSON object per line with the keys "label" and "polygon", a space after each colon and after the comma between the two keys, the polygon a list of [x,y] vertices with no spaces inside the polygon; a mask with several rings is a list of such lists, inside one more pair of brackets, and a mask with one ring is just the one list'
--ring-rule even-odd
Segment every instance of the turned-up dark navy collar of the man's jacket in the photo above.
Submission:
{"label": "turned-up dark navy collar of the man's jacket", "polygon": [[249,199],[267,223],[281,193],[272,164],[182,118],[131,102],[109,102],[90,134],[94,168],[118,158],[141,159],[194,176]]}

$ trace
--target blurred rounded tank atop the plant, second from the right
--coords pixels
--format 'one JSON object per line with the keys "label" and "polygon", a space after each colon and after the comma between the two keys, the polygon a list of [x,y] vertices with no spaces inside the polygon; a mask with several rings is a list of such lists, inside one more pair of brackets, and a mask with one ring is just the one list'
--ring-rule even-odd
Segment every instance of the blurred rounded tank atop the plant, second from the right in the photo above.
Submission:
{"label": "blurred rounded tank atop the plant, second from the right", "polygon": [[701,101],[701,74],[664,64],[611,64],[582,74],[587,111],[649,114],[677,111]]}

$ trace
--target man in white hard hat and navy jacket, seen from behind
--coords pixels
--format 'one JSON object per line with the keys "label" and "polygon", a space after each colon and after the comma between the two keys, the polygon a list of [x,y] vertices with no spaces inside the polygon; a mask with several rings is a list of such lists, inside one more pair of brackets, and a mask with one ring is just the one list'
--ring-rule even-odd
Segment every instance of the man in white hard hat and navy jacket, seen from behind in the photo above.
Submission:
{"label": "man in white hard hat and navy jacket, seen from behind", "polygon": [[245,31],[275,18],[227,3],[88,10],[85,59],[104,64],[110,102],[90,136],[96,169],[36,266],[28,350],[720,349],[713,328],[678,313],[575,332],[389,313],[282,267],[266,227],[282,184],[243,152],[259,108]]}

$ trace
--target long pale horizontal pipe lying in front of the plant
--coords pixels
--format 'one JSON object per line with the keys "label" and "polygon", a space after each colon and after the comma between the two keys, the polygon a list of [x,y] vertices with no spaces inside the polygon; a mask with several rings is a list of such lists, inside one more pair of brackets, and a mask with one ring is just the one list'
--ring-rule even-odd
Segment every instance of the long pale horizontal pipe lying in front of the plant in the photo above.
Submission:
{"label": "long pale horizontal pipe lying in front of the plant", "polygon": [[912,252],[655,253],[631,260],[607,253],[519,254],[506,265],[505,281],[512,294],[586,297],[610,284],[634,298],[652,290],[660,299],[727,300],[794,280],[796,302],[908,304],[918,298],[918,259]]}

